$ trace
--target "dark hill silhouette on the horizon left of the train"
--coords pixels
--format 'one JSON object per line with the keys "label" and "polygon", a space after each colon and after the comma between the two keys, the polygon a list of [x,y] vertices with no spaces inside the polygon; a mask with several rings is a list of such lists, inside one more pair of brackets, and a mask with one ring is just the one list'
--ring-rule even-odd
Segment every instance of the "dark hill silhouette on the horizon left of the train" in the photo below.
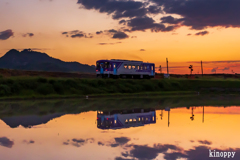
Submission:
{"label": "dark hill silhouette on the horizon left of the train", "polygon": [[64,62],[31,49],[24,49],[21,52],[15,49],[8,51],[0,58],[0,68],[51,72],[95,72],[95,66]]}

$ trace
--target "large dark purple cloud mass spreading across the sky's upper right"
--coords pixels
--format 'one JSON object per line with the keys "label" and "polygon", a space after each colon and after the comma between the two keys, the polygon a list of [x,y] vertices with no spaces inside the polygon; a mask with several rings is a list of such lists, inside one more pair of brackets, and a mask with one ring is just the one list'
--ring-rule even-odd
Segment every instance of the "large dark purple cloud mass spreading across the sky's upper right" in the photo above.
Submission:
{"label": "large dark purple cloud mass spreading across the sky's upper right", "polygon": [[[208,27],[240,27],[240,1],[238,0],[78,0],[85,9],[94,9],[100,13],[111,14],[113,19],[130,19],[148,17],[151,14],[178,15],[181,18],[165,16],[161,23],[145,21],[143,24],[129,25],[132,31],[172,31],[179,26],[203,30]],[[127,24],[127,20],[120,20]],[[173,26],[165,26],[163,23]],[[179,25],[179,26],[175,26]]]}

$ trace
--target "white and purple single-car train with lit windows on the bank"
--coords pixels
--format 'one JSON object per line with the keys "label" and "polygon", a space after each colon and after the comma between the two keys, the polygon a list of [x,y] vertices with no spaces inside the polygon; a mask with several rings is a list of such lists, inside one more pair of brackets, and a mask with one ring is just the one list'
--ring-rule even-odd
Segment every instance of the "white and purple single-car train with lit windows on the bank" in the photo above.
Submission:
{"label": "white and purple single-car train with lit windows on the bank", "polygon": [[97,77],[106,78],[154,78],[154,63],[131,60],[98,60],[96,62]]}

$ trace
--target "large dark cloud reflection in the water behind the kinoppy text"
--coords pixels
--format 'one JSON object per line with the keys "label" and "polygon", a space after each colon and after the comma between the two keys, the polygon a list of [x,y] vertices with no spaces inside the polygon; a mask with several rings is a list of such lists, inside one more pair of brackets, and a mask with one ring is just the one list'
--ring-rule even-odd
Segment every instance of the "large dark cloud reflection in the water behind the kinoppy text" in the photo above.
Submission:
{"label": "large dark cloud reflection in the water behind the kinoppy text", "polygon": [[[209,141],[202,141],[204,144],[209,144]],[[162,153],[166,160],[177,160],[177,159],[188,159],[188,160],[211,160],[217,159],[209,157],[209,150],[215,152],[236,152],[234,159],[240,159],[240,148],[210,148],[208,146],[195,146],[192,149],[184,150],[181,147],[170,144],[154,144],[153,147],[147,145],[127,145],[129,151],[122,152],[123,157],[117,157],[119,160],[127,158],[139,159],[139,160],[150,160],[155,159],[158,154]],[[170,151],[169,151],[170,150]],[[224,159],[222,157],[222,159]]]}

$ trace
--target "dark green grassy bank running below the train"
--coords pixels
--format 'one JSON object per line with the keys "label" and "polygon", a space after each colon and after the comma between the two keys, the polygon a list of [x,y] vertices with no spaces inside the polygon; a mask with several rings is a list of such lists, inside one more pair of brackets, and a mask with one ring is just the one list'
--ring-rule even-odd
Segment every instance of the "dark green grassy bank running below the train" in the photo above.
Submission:
{"label": "dark green grassy bank running below the train", "polygon": [[86,95],[239,93],[240,80],[221,79],[73,79],[43,77],[0,78],[0,97],[67,98]]}

